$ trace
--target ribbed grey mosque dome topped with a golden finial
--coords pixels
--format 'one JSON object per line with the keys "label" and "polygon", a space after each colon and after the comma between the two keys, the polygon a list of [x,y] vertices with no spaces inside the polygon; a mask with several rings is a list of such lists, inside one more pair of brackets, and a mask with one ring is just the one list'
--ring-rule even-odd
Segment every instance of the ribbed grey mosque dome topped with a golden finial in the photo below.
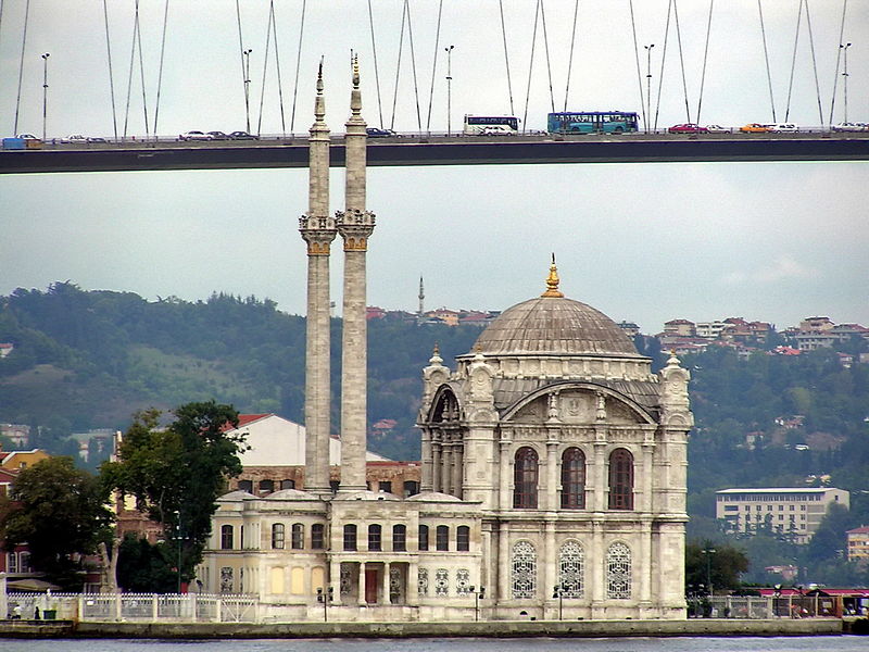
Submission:
{"label": "ribbed grey mosque dome topped with a golden finial", "polygon": [[540,354],[638,356],[631,338],[605,314],[558,291],[555,261],[542,296],[505,310],[480,334],[483,355]]}

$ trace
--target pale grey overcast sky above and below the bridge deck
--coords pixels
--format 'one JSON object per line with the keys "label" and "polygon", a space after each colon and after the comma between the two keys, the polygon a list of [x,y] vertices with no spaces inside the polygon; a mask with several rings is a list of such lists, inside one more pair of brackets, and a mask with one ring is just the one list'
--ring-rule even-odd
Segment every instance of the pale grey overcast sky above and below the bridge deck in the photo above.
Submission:
{"label": "pale grey overcast sky above and below the bridge deck", "polygon": [[[277,1],[287,130],[290,130],[301,1]],[[367,3],[308,2],[297,105],[297,133],[311,123],[313,75],[326,57],[327,122],[340,131],[349,98],[348,53],[360,51],[364,114],[379,122]],[[392,122],[402,2],[373,3],[385,123]],[[464,113],[509,113],[496,0],[445,0],[431,128],[446,126],[445,60],[452,59],[452,126]],[[525,113],[532,0],[504,1],[514,113]],[[764,18],[779,121],[784,117],[798,1],[765,0]],[[149,124],[153,127],[163,1],[141,0]],[[252,127],[259,122],[266,2],[242,0],[251,55]],[[564,103],[572,0],[547,0],[556,108]],[[629,2],[606,10],[581,1],[568,108],[640,110]],[[824,121],[839,53],[842,3],[809,3]],[[13,129],[23,0],[4,3],[0,25],[0,129]],[[124,122],[133,2],[110,2],[118,128]],[[414,46],[425,127],[438,2],[415,0]],[[655,43],[653,108],[664,50],[667,1],[634,2],[641,68]],[[692,118],[698,102],[708,3],[681,0],[679,18]],[[48,134],[112,135],[102,2],[34,0],[28,25],[20,131],[41,133],[42,60],[49,59]],[[75,28],[71,28],[75,25]],[[244,127],[235,2],[169,3],[159,133]],[[805,16],[789,120],[820,123]],[[869,121],[869,1],[847,4],[848,117]],[[395,128],[417,130],[405,33]],[[685,122],[672,32],[658,126]],[[138,66],[138,62],[137,62]],[[841,64],[840,64],[841,72]],[[128,134],[143,135],[138,67]],[[263,133],[281,130],[269,61]],[[833,122],[843,118],[843,78]],[[643,90],[645,86],[643,86]],[[771,122],[756,0],[715,4],[703,124]],[[542,27],[527,126],[550,111]],[[864,163],[641,164],[375,168],[369,208],[369,303],[414,310],[419,275],[427,305],[504,309],[542,291],[555,251],[563,289],[616,319],[657,331],[672,317],[767,319],[780,327],[808,314],[869,325]],[[332,208],[342,202],[333,173]],[[147,298],[205,298],[211,291],[269,297],[288,312],[304,306],[304,247],[297,217],[306,210],[306,171],[101,173],[0,177],[3,231],[0,292],[72,279],[84,288],[130,290]],[[340,255],[333,256],[340,304]]]}

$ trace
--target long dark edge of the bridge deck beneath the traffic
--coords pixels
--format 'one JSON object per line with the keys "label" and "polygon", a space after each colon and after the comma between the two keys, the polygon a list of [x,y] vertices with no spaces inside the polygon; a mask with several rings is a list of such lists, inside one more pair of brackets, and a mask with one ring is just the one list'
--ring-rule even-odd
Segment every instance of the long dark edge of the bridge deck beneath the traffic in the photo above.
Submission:
{"label": "long dark edge of the bridge deck beneath the traffic", "polygon": [[[458,141],[456,141],[458,140]],[[702,137],[539,139],[403,138],[368,145],[368,165],[492,165],[534,163],[690,163],[730,161],[866,161],[869,137]],[[332,145],[331,165],[344,164]],[[306,167],[307,142],[189,146],[137,143],[0,151],[0,174],[156,170]]]}

